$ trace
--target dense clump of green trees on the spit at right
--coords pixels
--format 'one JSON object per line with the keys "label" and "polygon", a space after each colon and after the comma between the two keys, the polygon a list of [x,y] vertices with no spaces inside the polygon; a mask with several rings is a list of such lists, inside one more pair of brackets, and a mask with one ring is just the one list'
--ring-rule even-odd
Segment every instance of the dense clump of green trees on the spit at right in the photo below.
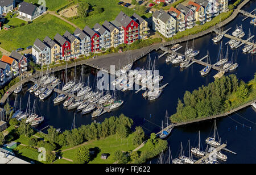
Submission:
{"label": "dense clump of green trees on the spit at right", "polygon": [[171,120],[185,122],[205,118],[225,113],[245,102],[252,101],[256,96],[256,89],[253,87],[256,83],[252,80],[249,84],[239,82],[237,77],[231,74],[216,79],[208,86],[201,86],[192,93],[186,91],[183,97],[184,103],[178,99],[176,114],[171,116]]}

